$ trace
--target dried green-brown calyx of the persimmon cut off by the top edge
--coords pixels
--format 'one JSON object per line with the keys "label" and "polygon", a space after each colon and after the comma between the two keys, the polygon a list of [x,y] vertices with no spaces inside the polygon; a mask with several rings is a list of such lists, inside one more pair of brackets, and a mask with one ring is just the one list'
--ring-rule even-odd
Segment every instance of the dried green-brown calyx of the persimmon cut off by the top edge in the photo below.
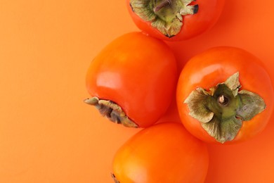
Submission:
{"label": "dried green-brown calyx of the persimmon cut off by the top edge", "polygon": [[183,16],[197,13],[199,6],[189,5],[195,0],[131,0],[132,11],[151,22],[166,37],[174,37],[181,31]]}

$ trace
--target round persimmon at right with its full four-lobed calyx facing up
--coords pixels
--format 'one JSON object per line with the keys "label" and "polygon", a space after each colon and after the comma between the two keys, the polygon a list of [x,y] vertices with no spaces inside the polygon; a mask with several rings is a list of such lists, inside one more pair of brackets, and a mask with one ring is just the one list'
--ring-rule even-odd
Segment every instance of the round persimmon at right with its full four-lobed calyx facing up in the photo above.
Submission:
{"label": "round persimmon at right with its full four-lobed calyx facing up", "polygon": [[219,46],[186,63],[176,100],[185,128],[207,142],[233,144],[254,137],[273,112],[273,85],[251,53]]}

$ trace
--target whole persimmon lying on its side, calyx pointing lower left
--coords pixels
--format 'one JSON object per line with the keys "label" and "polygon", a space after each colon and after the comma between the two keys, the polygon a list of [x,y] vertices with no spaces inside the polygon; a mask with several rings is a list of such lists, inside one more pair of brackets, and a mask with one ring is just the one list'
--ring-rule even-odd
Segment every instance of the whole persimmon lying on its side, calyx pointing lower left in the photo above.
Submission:
{"label": "whole persimmon lying on its side, calyx pointing lower left", "polygon": [[162,40],[131,32],[110,42],[86,74],[85,102],[112,122],[148,127],[164,115],[175,94],[176,58]]}

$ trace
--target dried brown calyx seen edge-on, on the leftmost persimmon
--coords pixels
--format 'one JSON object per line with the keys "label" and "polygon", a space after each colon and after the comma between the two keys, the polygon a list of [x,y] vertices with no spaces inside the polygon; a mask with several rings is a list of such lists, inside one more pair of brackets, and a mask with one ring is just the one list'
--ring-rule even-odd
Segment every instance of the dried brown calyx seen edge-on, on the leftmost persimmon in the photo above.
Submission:
{"label": "dried brown calyx seen edge-on, on the leftmost persimmon", "polygon": [[84,100],[84,102],[95,106],[101,115],[107,117],[112,122],[122,124],[125,127],[138,127],[135,122],[126,116],[122,108],[113,101],[98,99],[98,97],[94,96],[91,99]]}

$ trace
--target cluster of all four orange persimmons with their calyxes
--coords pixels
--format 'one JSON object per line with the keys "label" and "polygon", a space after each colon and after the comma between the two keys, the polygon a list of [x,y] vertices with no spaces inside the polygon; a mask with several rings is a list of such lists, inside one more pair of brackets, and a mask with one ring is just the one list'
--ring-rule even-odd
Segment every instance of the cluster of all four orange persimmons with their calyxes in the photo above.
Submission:
{"label": "cluster of all four orange persimmons with their calyxes", "polygon": [[[263,63],[243,49],[218,46],[197,54],[178,72],[164,41],[209,30],[224,0],[126,0],[131,32],[105,46],[86,75],[91,98],[112,122],[141,127],[117,151],[115,182],[204,182],[207,143],[233,144],[261,132],[274,93]],[[157,122],[176,95],[181,122]]]}

